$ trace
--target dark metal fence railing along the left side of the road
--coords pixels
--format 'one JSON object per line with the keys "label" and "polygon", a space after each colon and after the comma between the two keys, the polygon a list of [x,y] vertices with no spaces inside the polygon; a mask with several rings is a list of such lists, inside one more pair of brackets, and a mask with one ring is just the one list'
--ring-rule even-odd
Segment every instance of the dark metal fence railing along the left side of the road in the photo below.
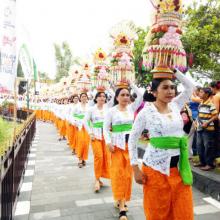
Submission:
{"label": "dark metal fence railing along the left side of the road", "polygon": [[[26,113],[24,113],[26,114]],[[23,114],[22,114],[23,115]],[[12,220],[17,197],[20,192],[23,174],[30,152],[31,142],[36,131],[35,114],[23,122],[23,126],[16,132],[12,146],[0,161],[0,219]],[[22,118],[23,120],[23,118]]]}

